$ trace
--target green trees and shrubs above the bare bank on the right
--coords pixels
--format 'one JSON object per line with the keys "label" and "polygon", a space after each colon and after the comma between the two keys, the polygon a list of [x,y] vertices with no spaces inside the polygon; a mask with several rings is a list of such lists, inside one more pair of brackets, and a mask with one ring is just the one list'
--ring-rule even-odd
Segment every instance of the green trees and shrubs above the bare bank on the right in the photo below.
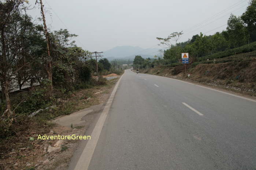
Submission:
{"label": "green trees and shrubs above the bare bank on the right", "polygon": [[157,38],[159,45],[168,47],[160,56],[134,59],[134,67],[145,69],[158,65],[181,65],[181,53],[189,53],[190,63],[214,60],[256,50],[256,0],[251,0],[241,16],[230,15],[227,28],[214,35],[203,33],[178,43],[183,32],[173,32],[167,38]]}

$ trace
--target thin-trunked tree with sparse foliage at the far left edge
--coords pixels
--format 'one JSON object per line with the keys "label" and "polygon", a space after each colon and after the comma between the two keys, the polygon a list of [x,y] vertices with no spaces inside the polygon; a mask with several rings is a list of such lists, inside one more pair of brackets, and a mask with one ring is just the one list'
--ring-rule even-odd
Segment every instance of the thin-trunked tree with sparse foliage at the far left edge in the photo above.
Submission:
{"label": "thin-trunked tree with sparse foliage at the far left edge", "polygon": [[[0,81],[4,85],[7,116],[12,115],[9,85],[15,74],[29,64],[28,61],[18,66],[22,52],[21,37],[24,34],[21,18],[26,10],[24,0],[0,1]],[[13,115],[12,115],[13,116]]]}

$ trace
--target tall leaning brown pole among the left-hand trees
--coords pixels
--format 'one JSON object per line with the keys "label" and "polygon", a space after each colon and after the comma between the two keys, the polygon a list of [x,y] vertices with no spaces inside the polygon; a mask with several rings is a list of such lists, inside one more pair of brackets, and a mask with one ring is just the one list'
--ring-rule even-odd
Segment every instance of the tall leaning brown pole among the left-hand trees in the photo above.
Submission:
{"label": "tall leaning brown pole among the left-hand trees", "polygon": [[[36,1],[36,3],[37,3],[37,1]],[[48,74],[48,79],[50,81],[50,86],[51,86],[50,88],[51,88],[51,92],[52,92],[53,91],[53,86],[52,86],[52,64],[51,64],[49,39],[48,39],[48,32],[47,32],[47,26],[46,26],[46,22],[45,22],[42,0],[40,0],[40,5],[41,5],[42,19],[43,19],[43,22],[44,22],[44,33],[45,33],[45,38],[46,38],[46,42],[47,42],[47,52],[48,52],[48,59],[47,59],[47,62],[46,62],[47,63],[46,72]]]}

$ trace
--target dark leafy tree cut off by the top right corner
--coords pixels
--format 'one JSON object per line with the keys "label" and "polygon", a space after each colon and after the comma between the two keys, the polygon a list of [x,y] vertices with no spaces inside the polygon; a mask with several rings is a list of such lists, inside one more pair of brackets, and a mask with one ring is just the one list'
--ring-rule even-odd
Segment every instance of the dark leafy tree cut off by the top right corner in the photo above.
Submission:
{"label": "dark leafy tree cut off by the top right corner", "polygon": [[246,24],[252,42],[256,41],[256,0],[251,0],[241,19]]}

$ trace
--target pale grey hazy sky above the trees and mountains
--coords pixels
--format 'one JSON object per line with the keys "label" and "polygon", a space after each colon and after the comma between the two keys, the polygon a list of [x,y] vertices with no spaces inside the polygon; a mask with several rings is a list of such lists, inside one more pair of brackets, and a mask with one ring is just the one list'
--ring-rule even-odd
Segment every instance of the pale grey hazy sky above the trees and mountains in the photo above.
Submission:
{"label": "pale grey hazy sky above the trees and mountains", "polygon": [[[34,1],[30,0],[30,4],[34,5]],[[89,51],[105,51],[115,46],[157,47],[159,42],[156,37],[165,38],[171,32],[182,30],[184,35],[181,41],[186,41],[200,32],[206,35],[214,34],[226,28],[223,25],[227,23],[230,13],[241,15],[249,2],[249,0],[42,1],[45,4],[48,27],[51,30],[67,28],[71,33],[79,35],[75,38],[77,45]],[[40,17],[38,5],[29,13],[34,18]],[[207,19],[209,20],[205,21]]]}

